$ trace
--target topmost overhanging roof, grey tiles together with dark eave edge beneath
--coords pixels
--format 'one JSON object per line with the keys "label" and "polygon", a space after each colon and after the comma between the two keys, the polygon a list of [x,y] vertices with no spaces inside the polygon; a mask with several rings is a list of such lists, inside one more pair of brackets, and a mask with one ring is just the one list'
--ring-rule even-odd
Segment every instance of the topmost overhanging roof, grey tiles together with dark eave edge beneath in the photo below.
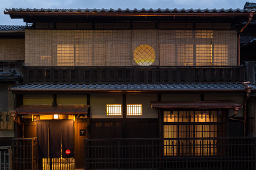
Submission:
{"label": "topmost overhanging roof, grey tiles together with dark eave edge beneath", "polygon": [[237,9],[212,9],[209,10],[208,8],[201,10],[201,9],[188,9],[185,10],[184,8],[181,10],[178,10],[177,8],[174,8],[173,10],[166,8],[161,9],[158,8],[156,10],[150,8],[149,10],[146,10],[145,8],[142,8],[141,10],[137,10],[137,8],[134,8],[134,10],[130,10],[129,8],[126,8],[126,10],[122,10],[121,8],[118,8],[118,10],[114,10],[110,8],[107,9],[37,9],[37,8],[9,8],[5,9],[4,14],[16,15],[15,18],[23,18],[23,16],[42,16],[42,15],[55,15],[55,16],[78,16],[78,15],[85,15],[85,16],[247,16],[248,12],[254,12],[253,10],[240,10]]}

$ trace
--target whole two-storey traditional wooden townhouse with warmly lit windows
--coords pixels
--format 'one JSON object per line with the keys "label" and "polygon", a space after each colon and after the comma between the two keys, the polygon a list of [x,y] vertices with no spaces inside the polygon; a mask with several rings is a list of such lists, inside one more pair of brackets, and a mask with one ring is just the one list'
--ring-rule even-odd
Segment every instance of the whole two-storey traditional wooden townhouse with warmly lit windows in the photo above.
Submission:
{"label": "whole two-storey traditional wooden townhouse with warmly lit windows", "polygon": [[238,53],[254,10],[4,13],[31,24],[0,31],[25,47],[3,43],[2,62],[23,64],[14,169],[255,169],[256,87]]}

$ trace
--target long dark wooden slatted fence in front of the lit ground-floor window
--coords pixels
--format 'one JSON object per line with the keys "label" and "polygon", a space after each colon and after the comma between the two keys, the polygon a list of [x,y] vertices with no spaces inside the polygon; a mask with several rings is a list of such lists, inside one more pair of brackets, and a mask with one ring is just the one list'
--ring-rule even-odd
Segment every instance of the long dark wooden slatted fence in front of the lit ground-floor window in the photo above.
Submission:
{"label": "long dark wooden slatted fence in front of the lit ground-floor window", "polygon": [[256,169],[256,138],[85,139],[85,169]]}

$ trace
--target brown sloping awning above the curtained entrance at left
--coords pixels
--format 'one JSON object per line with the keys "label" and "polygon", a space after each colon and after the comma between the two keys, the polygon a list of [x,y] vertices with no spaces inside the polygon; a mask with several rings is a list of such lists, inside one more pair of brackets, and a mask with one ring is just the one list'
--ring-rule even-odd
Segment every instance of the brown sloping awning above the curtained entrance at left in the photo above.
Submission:
{"label": "brown sloping awning above the curtained entrance at left", "polygon": [[47,115],[47,114],[87,114],[90,105],[22,105],[14,109],[12,113],[16,115]]}

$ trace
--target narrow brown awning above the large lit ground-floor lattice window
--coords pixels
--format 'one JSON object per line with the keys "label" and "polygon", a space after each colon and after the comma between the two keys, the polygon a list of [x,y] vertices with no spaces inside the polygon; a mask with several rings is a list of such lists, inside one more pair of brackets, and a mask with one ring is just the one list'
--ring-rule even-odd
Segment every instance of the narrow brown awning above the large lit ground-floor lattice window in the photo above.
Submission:
{"label": "narrow brown awning above the large lit ground-floor lattice window", "polygon": [[193,108],[193,109],[234,109],[238,111],[242,105],[232,100],[210,100],[210,101],[151,101],[151,108]]}

